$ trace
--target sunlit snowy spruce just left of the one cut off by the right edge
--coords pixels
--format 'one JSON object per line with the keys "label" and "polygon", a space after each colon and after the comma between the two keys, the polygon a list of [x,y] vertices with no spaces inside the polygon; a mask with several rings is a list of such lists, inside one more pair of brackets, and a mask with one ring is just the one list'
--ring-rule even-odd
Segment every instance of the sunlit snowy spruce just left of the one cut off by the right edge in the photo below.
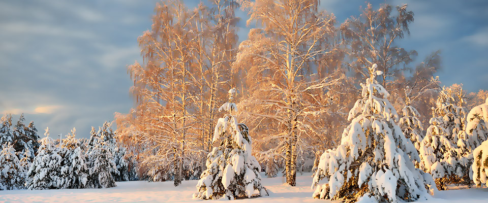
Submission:
{"label": "sunlit snowy spruce just left of the one cut off by the right edge", "polygon": [[464,144],[466,109],[461,88],[442,88],[420,143],[419,168],[432,174],[440,190],[448,184],[471,185],[471,151]]}

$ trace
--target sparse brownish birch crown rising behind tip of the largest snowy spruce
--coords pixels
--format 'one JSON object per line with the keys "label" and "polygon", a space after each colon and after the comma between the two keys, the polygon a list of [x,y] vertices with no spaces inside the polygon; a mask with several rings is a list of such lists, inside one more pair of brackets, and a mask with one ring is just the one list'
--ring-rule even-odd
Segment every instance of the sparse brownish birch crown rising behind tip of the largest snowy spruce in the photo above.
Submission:
{"label": "sparse brownish birch crown rising behind tip of the largest snowy spruce", "polygon": [[[396,16],[393,16],[396,14]],[[368,78],[368,67],[378,65],[383,72],[382,85],[388,89],[395,79],[408,70],[408,65],[417,55],[395,45],[395,42],[410,35],[409,24],[413,22],[413,12],[407,5],[397,6],[395,11],[388,4],[375,10],[371,4],[362,10],[359,18],[351,17],[341,25],[342,35],[349,41],[349,55],[354,59],[349,65],[357,76]]]}

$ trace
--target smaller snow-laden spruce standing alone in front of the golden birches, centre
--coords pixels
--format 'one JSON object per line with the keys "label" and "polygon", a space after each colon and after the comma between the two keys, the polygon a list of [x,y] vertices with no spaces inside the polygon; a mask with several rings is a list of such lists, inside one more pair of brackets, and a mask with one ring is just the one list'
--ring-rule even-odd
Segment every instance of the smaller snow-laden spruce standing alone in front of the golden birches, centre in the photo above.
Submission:
{"label": "smaller snow-laden spruce standing alone in front of the golden birches, centre", "polygon": [[194,198],[251,197],[254,190],[258,190],[260,196],[268,195],[261,185],[261,166],[251,154],[252,140],[248,127],[238,123],[234,117],[237,112],[232,101],[235,93],[235,88],[230,89],[229,102],[219,108],[219,112],[224,110],[227,114],[217,121],[212,141],[221,143],[207,156],[207,169],[198,181]]}

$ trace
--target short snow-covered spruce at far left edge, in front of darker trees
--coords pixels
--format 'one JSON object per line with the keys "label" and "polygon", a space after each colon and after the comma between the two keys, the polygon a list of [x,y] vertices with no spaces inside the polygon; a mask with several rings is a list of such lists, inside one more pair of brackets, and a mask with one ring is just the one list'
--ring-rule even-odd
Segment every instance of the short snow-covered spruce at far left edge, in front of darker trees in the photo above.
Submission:
{"label": "short snow-covered spruce at far left edge, in front of darker trees", "polygon": [[15,153],[12,144],[3,144],[0,152],[0,190],[22,189],[24,186],[24,168]]}

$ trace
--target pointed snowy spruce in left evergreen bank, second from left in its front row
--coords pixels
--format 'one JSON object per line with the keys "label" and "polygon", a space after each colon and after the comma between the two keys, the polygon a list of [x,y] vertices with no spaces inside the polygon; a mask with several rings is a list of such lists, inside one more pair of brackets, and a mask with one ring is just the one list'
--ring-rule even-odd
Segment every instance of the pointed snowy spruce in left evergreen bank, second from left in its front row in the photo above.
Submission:
{"label": "pointed snowy spruce in left evergreen bank, second from left in its front row", "polygon": [[27,172],[25,186],[29,190],[57,189],[64,184],[59,167],[62,157],[57,154],[54,141],[49,137],[49,128],[46,128],[44,136],[46,137],[41,139],[37,156]]}

